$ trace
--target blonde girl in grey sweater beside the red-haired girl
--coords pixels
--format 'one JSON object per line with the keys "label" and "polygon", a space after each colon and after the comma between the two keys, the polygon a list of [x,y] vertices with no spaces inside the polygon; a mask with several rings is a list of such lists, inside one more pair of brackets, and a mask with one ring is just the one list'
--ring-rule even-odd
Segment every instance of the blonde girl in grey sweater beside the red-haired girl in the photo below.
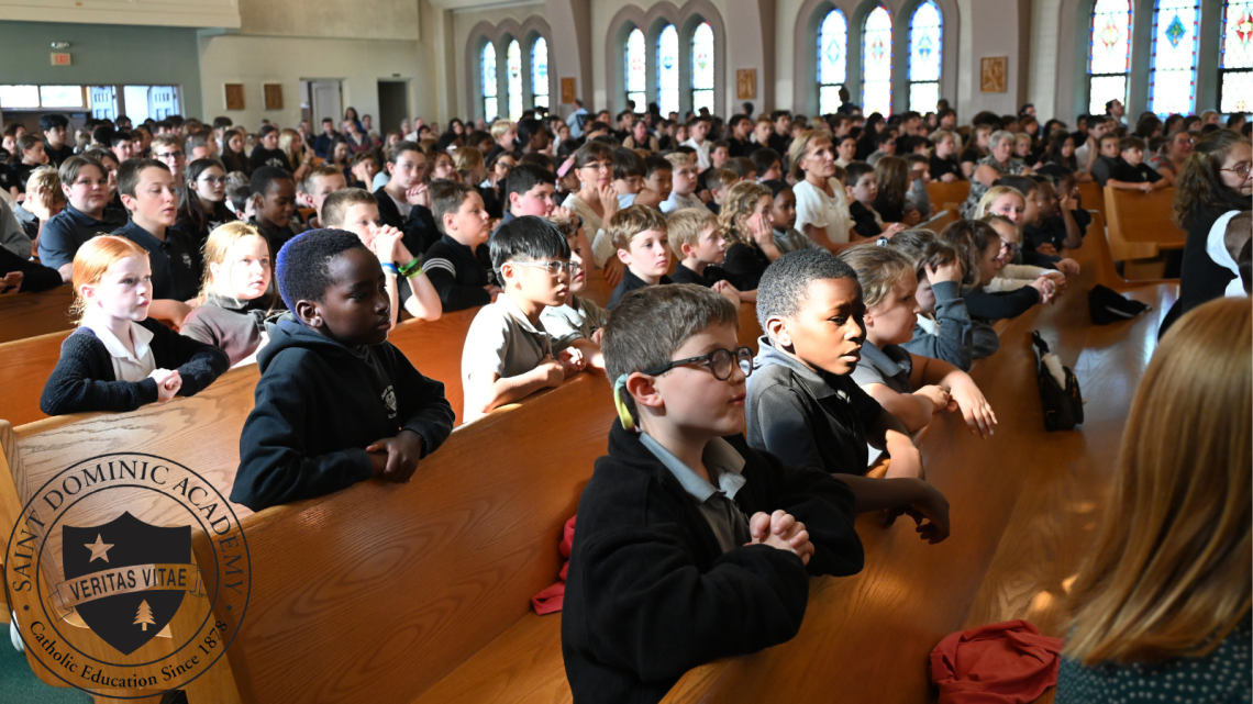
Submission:
{"label": "blonde girl in grey sweater beside the red-haired girl", "polygon": [[274,317],[277,297],[266,293],[272,272],[269,244],[256,225],[232,222],[214,228],[204,243],[200,304],[179,332],[222,348],[233,367],[256,362],[269,339],[266,321]]}

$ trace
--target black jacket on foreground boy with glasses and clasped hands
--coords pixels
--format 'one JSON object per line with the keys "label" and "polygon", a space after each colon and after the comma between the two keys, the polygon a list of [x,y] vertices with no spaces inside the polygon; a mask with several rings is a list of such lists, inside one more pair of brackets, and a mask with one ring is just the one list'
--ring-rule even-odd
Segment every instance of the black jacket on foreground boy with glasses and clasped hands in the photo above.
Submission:
{"label": "black jacket on foreground boy with glasses and clasped hands", "polygon": [[809,575],[861,571],[853,495],[817,468],[794,468],[725,438],[747,463],[746,516],[783,509],[816,551],[808,566],[766,545],[722,552],[695,500],[614,421],[579,499],[561,653],[576,703],[659,701],[688,669],[792,639]]}

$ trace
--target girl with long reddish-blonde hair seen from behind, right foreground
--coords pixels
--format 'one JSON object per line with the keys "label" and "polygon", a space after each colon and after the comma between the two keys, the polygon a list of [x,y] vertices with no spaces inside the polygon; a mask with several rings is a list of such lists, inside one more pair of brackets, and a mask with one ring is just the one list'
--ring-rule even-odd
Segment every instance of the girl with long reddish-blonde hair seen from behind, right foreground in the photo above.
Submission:
{"label": "girl with long reddish-blonde hair seen from behind, right foreground", "polygon": [[1248,301],[1200,306],[1140,381],[1109,510],[1070,589],[1058,704],[1248,701]]}

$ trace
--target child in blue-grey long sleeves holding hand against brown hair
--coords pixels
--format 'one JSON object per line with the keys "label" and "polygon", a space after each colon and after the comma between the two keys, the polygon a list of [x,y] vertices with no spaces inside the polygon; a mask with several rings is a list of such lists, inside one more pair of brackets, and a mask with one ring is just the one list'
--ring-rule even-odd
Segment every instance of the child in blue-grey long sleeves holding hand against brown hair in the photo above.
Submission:
{"label": "child in blue-grey long sleeves holding hand against brown hair", "polygon": [[970,318],[961,284],[966,278],[957,251],[931,230],[907,229],[896,233],[888,247],[900,252],[913,267],[918,279],[918,319],[913,338],[901,347],[922,357],[944,360],[964,372],[975,360],[987,357],[1000,347],[991,326]]}

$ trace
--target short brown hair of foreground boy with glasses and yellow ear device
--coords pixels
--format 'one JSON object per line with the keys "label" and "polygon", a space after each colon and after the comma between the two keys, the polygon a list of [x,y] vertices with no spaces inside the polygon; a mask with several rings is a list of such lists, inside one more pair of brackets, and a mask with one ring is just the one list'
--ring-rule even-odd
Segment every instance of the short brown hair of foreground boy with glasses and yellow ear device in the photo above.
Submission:
{"label": "short brown hair of foreground boy with glasses and yellow ear device", "polygon": [[[713,289],[692,283],[647,286],[623,296],[604,327],[601,349],[609,385],[633,372],[659,367],[677,349],[713,326],[738,329],[736,306]],[[629,393],[621,398],[635,415]]]}

